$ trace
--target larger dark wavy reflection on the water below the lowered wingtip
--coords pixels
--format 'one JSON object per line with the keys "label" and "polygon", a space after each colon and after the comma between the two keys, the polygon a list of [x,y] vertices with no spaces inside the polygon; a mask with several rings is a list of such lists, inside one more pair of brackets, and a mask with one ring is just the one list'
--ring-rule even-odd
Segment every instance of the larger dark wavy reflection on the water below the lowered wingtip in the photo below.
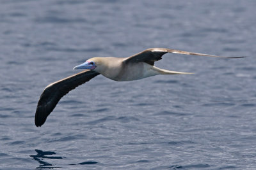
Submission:
{"label": "larger dark wavy reflection on the water below the lowered wingtip", "polygon": [[42,159],[63,159],[63,157],[54,157],[54,156],[47,156],[47,155],[54,155],[55,152],[49,152],[49,151],[42,151],[42,150],[35,150],[36,155],[30,155],[30,157],[33,157],[40,165],[36,168],[40,169],[54,169],[54,168],[60,168],[60,167],[54,167],[53,164],[50,164]]}

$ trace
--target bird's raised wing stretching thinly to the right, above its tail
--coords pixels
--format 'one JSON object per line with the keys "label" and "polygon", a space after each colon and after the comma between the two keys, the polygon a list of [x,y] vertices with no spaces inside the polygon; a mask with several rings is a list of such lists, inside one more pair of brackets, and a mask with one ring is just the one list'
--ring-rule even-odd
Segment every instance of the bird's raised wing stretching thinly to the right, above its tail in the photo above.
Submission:
{"label": "bird's raised wing stretching thinly to the right, above its tail", "polygon": [[164,53],[181,53],[186,55],[200,55],[200,56],[206,56],[206,57],[220,57],[220,58],[243,58],[243,57],[221,57],[217,55],[185,52],[185,51],[173,50],[168,48],[148,48],[143,52],[136,53],[131,57],[128,57],[126,60],[124,60],[124,62],[147,62],[148,64],[154,66],[154,62],[157,60],[161,60]]}

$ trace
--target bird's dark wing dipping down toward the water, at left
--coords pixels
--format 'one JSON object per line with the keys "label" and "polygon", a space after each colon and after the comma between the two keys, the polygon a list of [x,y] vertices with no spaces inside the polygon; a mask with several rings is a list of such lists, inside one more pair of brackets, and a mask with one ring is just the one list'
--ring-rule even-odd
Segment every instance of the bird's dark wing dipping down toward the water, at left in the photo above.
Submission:
{"label": "bird's dark wing dipping down toward the water, at left", "polygon": [[97,75],[99,75],[99,73],[95,71],[85,70],[45,87],[37,104],[35,125],[38,127],[44,124],[46,118],[50,115],[52,110],[54,110],[61,97]]}

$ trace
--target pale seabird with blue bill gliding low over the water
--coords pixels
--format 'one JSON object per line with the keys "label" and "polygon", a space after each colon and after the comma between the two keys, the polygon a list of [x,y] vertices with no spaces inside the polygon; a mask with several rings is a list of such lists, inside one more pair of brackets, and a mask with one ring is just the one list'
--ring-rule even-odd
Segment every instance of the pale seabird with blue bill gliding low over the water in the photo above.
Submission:
{"label": "pale seabird with blue bill gliding low over the water", "polygon": [[[50,113],[54,110],[61,97],[79,85],[90,81],[95,76],[102,74],[106,78],[115,81],[132,81],[156,76],[158,74],[193,74],[179,71],[160,69],[154,63],[162,59],[165,53],[179,53],[184,55],[200,55],[205,57],[219,58],[242,58],[221,57],[205,53],[186,52],[170,48],[148,48],[130,57],[93,57],[86,60],[74,69],[85,69],[80,73],[55,81],[45,87],[38,101],[35,113],[36,127],[42,126]],[[243,56],[244,57],[244,56]]]}

